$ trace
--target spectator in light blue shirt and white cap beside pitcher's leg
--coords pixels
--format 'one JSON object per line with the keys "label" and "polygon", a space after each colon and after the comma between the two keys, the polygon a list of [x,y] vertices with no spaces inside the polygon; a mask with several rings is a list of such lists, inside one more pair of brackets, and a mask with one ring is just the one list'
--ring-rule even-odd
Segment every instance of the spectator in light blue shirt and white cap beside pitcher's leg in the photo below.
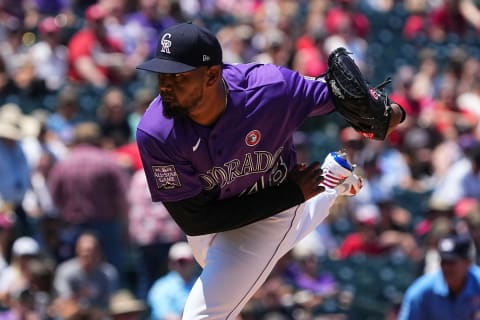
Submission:
{"label": "spectator in light blue shirt and white cap beside pitcher's leg", "polygon": [[187,296],[197,279],[198,265],[190,246],[180,241],[168,252],[170,272],[158,278],[148,292],[152,320],[180,320]]}

